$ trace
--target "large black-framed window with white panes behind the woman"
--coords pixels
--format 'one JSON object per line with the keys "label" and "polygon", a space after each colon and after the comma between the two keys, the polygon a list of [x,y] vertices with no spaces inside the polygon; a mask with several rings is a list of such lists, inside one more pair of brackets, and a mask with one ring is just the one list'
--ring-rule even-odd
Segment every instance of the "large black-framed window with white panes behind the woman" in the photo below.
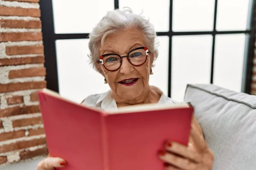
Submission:
{"label": "large black-framed window with white panes behind the woman", "polygon": [[125,6],[143,12],[157,31],[151,85],[177,101],[183,101],[188,83],[250,93],[253,0],[45,0],[40,5],[47,87],[75,102],[109,89],[89,64],[87,37],[107,11]]}

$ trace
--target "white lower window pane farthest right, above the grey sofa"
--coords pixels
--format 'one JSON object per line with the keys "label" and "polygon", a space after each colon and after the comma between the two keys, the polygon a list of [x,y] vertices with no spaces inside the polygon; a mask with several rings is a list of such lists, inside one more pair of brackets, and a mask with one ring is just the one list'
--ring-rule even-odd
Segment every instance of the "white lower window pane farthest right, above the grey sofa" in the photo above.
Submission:
{"label": "white lower window pane farthest right, above the grey sofa", "polygon": [[213,84],[241,91],[245,34],[217,35]]}

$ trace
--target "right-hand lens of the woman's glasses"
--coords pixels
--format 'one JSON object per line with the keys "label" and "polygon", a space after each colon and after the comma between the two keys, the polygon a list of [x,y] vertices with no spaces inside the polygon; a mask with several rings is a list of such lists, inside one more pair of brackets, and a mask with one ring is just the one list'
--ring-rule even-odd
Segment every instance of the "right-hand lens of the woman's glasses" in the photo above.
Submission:
{"label": "right-hand lens of the woman's glasses", "polygon": [[129,54],[129,59],[133,65],[141,65],[147,59],[146,51],[144,49],[132,51]]}

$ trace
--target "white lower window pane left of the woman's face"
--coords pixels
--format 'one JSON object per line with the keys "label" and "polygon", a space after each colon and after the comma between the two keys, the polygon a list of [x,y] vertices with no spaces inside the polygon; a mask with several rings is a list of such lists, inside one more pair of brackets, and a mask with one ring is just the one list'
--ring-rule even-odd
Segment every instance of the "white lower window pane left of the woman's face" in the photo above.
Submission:
{"label": "white lower window pane left of the woman's face", "polygon": [[79,103],[88,95],[110,89],[104,84],[104,77],[89,65],[88,42],[88,39],[56,41],[59,92]]}

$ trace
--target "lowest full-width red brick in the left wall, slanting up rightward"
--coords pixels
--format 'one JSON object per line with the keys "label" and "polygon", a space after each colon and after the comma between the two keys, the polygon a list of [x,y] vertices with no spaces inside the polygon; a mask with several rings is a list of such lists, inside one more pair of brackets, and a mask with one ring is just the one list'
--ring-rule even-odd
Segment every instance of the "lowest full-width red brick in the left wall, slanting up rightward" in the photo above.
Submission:
{"label": "lowest full-width red brick in the left wall, slanting up rightward", "polygon": [[5,153],[5,152],[10,152],[13,150],[19,150],[23,148],[28,148],[28,147],[33,147],[33,146],[38,146],[42,144],[46,144],[46,139],[41,138],[41,139],[33,139],[29,141],[19,141],[11,144],[4,144],[0,147],[0,153]]}

